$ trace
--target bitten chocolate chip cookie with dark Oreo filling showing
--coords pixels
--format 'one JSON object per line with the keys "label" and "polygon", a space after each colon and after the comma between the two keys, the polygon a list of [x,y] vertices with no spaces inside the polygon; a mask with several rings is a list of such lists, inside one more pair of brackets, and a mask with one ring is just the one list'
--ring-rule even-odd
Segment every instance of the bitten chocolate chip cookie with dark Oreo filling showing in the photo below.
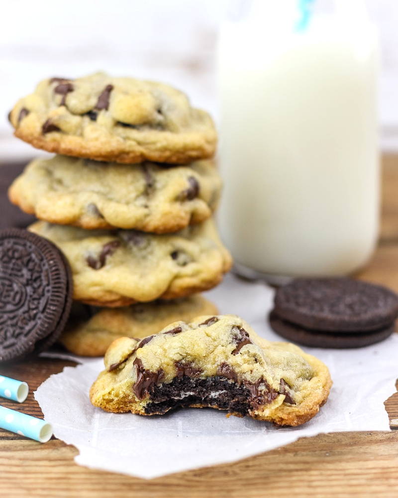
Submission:
{"label": "bitten chocolate chip cookie with dark Oreo filling showing", "polygon": [[332,384],[322,362],[258,337],[234,315],[175,322],[142,341],[117,339],[104,363],[91,402],[141,415],[206,406],[296,426],[318,413]]}

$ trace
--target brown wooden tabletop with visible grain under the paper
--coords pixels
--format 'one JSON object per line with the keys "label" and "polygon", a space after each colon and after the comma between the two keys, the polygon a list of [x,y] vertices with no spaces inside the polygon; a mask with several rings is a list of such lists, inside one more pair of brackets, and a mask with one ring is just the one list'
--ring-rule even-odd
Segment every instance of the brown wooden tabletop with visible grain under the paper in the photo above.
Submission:
{"label": "brown wooden tabletop with visible grain under the paper", "polygon": [[[381,242],[358,277],[398,292],[398,156],[384,157],[383,171]],[[32,391],[67,365],[73,363],[38,359],[1,368],[2,374],[28,380],[31,388],[22,405],[1,403],[42,417]],[[391,427],[398,429],[398,393],[386,408]],[[151,481],[79,467],[73,461],[77,454],[55,438],[40,444],[0,430],[0,497],[398,497],[398,431],[303,438],[235,464]]]}

